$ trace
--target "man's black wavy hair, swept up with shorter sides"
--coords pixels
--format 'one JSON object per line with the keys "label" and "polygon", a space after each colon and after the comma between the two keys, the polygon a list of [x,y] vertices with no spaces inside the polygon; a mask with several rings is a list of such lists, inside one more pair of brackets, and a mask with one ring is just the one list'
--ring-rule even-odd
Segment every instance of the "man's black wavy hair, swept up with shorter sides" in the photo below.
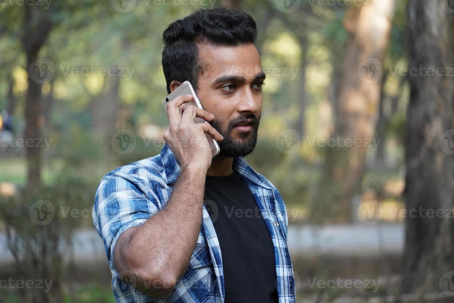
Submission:
{"label": "man's black wavy hair, swept up with shorter sides", "polygon": [[198,9],[172,22],[163,33],[163,71],[170,94],[173,80],[198,88],[197,43],[220,46],[255,44],[257,25],[251,15],[233,8]]}

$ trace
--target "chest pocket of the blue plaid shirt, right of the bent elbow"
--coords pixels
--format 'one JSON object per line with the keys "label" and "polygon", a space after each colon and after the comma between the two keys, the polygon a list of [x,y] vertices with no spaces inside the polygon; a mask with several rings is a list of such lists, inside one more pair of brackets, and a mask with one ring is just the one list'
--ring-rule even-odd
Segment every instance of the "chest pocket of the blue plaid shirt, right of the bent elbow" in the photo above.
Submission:
{"label": "chest pocket of the blue plaid shirt, right of the bent elbow", "polygon": [[207,244],[197,243],[188,269],[163,302],[208,302],[212,287],[212,260]]}

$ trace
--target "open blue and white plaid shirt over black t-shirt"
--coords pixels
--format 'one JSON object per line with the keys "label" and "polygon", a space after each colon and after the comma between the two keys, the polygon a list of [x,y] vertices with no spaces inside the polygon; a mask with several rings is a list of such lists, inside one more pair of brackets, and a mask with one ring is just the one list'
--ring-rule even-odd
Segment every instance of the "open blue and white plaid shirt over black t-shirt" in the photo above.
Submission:
{"label": "open blue and white plaid shirt over black t-shirt", "polygon": [[[287,248],[288,219],[281,194],[244,159],[234,158],[233,167],[251,190],[271,234],[279,303],[294,303],[295,279]],[[180,169],[171,149],[165,144],[161,154],[119,167],[105,175],[99,183],[93,222],[104,241],[117,302],[224,302],[221,249],[205,206],[202,210],[202,227],[188,269],[168,298],[159,300],[140,292],[134,288],[132,273],[118,273],[115,269],[114,249],[121,233],[143,224],[163,209]]]}

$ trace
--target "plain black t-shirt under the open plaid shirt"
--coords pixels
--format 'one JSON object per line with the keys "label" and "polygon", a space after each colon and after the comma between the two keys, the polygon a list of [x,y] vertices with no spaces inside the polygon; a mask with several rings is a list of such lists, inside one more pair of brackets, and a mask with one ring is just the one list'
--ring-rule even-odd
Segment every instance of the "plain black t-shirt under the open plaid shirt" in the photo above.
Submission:
{"label": "plain black t-shirt under the open plaid shirt", "polygon": [[270,233],[237,172],[207,175],[204,204],[221,248],[225,303],[278,302]]}

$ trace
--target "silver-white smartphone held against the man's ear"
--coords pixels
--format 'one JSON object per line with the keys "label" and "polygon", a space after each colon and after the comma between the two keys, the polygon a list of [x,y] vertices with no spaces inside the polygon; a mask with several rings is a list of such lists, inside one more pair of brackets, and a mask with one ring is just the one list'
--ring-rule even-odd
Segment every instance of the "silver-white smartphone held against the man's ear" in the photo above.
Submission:
{"label": "silver-white smartphone held against the man's ear", "polygon": [[[200,100],[197,97],[195,89],[192,87],[192,84],[189,81],[184,81],[180,86],[178,86],[172,93],[170,93],[164,100],[163,100],[163,106],[164,109],[166,110],[167,113],[167,104],[175,99],[178,96],[181,96],[182,94],[190,94],[192,96],[192,101],[188,103],[184,103],[182,106],[180,106],[178,109],[180,110],[180,115],[183,113],[183,109],[186,109],[186,107],[191,104],[193,106],[196,106],[200,109],[202,108],[202,104],[200,104]],[[208,123],[202,118],[195,117],[194,118],[194,123]],[[205,136],[207,137],[208,143],[210,144],[211,147],[211,157],[215,157],[219,154],[221,149],[219,148],[219,144],[217,144],[217,141],[213,139],[213,137],[207,133],[205,133]]]}

